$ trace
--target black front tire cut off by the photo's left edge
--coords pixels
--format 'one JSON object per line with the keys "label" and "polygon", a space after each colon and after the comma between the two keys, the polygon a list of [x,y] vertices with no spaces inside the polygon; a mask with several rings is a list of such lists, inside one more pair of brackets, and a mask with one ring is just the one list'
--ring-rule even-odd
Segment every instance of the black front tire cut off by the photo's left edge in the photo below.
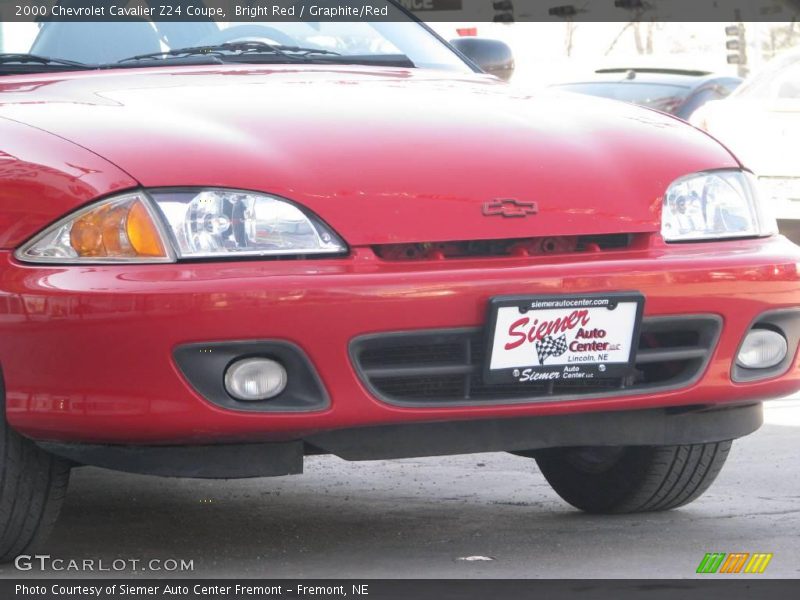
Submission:
{"label": "black front tire cut off by the photo's left edge", "polygon": [[30,554],[47,538],[58,518],[70,471],[69,462],[8,426],[5,404],[0,388],[0,563]]}

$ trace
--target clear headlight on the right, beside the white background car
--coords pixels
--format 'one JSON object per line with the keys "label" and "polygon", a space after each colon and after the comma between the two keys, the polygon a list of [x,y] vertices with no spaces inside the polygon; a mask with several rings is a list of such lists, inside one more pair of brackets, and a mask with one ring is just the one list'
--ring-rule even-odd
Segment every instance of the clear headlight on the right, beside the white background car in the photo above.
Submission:
{"label": "clear headlight on the right, beside the white background car", "polygon": [[667,242],[767,236],[775,218],[758,201],[746,171],[707,171],[681,177],[664,195],[661,234]]}

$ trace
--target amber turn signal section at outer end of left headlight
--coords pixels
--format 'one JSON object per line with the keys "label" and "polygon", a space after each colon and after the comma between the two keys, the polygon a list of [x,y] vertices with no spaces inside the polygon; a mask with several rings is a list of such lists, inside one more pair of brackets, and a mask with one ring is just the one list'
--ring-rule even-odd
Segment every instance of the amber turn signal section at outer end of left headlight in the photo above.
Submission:
{"label": "amber turn signal section at outer end of left headlight", "polygon": [[30,262],[160,262],[173,255],[139,193],[93,204],[56,223],[17,251]]}

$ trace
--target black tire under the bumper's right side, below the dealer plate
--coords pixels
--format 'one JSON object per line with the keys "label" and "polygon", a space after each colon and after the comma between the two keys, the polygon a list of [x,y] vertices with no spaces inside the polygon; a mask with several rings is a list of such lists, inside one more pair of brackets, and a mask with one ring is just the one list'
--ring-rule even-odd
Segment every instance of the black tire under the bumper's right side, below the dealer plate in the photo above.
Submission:
{"label": "black tire under the bumper's right side, below the dealer plate", "polygon": [[652,512],[683,506],[705,492],[731,443],[552,448],[533,456],[555,492],[576,508]]}

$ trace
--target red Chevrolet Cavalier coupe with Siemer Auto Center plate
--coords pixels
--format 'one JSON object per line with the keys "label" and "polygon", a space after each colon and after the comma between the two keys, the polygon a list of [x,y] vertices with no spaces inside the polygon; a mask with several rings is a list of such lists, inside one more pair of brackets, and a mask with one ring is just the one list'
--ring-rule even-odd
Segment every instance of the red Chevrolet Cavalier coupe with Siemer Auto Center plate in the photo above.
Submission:
{"label": "red Chevrolet Cavalier coupe with Siemer Auto Center plate", "polygon": [[5,559],[78,465],[509,451],[580,509],[670,509],[800,390],[800,250],[736,157],[476,47],[48,22],[2,55]]}

